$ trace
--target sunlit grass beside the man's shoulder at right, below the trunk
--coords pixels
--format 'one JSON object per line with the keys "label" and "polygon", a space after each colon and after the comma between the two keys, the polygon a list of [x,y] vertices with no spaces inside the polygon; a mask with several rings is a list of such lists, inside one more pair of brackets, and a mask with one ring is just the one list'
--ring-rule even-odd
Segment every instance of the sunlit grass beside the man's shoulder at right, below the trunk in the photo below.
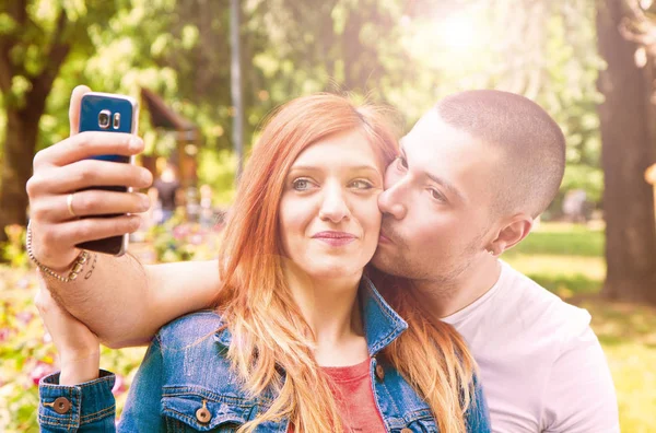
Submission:
{"label": "sunlit grass beside the man's shoulder at right, below the trunk", "polygon": [[504,259],[590,312],[614,381],[622,432],[656,432],[656,308],[598,296],[606,276],[601,230],[541,224]]}

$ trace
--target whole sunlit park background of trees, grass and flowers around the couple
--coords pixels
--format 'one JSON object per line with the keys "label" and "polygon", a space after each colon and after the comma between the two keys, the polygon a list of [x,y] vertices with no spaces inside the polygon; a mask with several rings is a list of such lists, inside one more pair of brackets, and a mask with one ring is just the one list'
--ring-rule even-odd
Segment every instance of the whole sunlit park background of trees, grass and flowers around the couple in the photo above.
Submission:
{"label": "whole sunlit park background of trees, grass and flowers around the couple", "polygon": [[[624,432],[656,431],[656,162],[652,0],[13,0],[0,5],[0,431],[37,431],[36,383],[56,368],[23,247],[35,152],[69,133],[72,89],[141,102],[141,163],[180,165],[186,206],[131,248],[144,261],[213,257],[196,187],[220,215],[242,148],[300,95],[350,93],[407,131],[440,97],[500,89],[544,107],[567,139],[559,197],[504,258],[587,308]],[[160,161],[160,163],[157,163]],[[653,175],[656,177],[656,175]],[[585,214],[563,213],[585,191]],[[584,216],[584,218],[581,218]],[[574,220],[574,221],[572,221]],[[143,348],[105,350],[119,408]]]}

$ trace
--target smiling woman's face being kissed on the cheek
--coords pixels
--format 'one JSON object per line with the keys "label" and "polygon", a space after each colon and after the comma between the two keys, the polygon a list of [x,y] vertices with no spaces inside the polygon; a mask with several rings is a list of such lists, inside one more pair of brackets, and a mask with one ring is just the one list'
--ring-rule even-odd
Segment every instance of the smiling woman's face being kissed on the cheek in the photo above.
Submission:
{"label": "smiling woman's face being kissed on the cheek", "polygon": [[280,202],[284,254],[314,279],[360,274],[378,243],[382,166],[359,131],[320,140],[292,164]]}

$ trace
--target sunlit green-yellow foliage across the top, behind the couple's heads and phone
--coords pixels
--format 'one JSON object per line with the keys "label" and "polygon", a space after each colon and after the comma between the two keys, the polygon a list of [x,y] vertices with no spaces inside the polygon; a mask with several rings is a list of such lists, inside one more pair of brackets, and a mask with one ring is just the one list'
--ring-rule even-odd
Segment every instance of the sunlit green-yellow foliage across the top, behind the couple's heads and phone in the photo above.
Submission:
{"label": "sunlit green-yellow foliage across the top, behind the couple's heads and phone", "polygon": [[[482,0],[244,2],[246,145],[272,107],[309,92],[367,95],[396,106],[410,126],[445,94],[505,89],[536,98],[563,127],[572,165],[563,191],[584,188],[598,201],[595,81],[601,62],[595,46],[594,2],[496,3],[490,10]],[[67,106],[77,84],[132,96],[147,86],[199,126],[201,182],[220,191],[219,201],[231,199],[229,177],[236,160],[226,153],[233,148],[234,116],[226,0],[30,4],[35,23],[30,30],[13,25],[8,13],[0,14],[7,24],[2,28],[21,36],[16,52],[25,55],[25,71],[43,69],[59,12],[75,24],[66,35],[72,49],[47,101],[39,148],[68,136]],[[28,87],[27,73],[16,77],[7,103],[20,103]],[[140,131],[151,143],[149,149],[171,153],[164,145],[167,136],[155,131],[148,116],[142,117]]]}

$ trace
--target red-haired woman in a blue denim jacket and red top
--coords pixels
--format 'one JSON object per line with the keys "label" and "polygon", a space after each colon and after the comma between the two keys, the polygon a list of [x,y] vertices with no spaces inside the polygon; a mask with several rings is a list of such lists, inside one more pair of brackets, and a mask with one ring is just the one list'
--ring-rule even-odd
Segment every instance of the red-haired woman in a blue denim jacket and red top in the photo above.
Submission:
{"label": "red-haired woman in a blue denim jacket and red top", "polygon": [[[283,106],[238,186],[216,309],[160,330],[118,430],[490,431],[457,332],[430,320],[410,286],[383,282],[395,312],[365,276],[396,154],[372,107],[325,94]],[[98,374],[97,339],[40,304],[62,368],[42,381],[42,431],[114,429],[114,378]]]}

